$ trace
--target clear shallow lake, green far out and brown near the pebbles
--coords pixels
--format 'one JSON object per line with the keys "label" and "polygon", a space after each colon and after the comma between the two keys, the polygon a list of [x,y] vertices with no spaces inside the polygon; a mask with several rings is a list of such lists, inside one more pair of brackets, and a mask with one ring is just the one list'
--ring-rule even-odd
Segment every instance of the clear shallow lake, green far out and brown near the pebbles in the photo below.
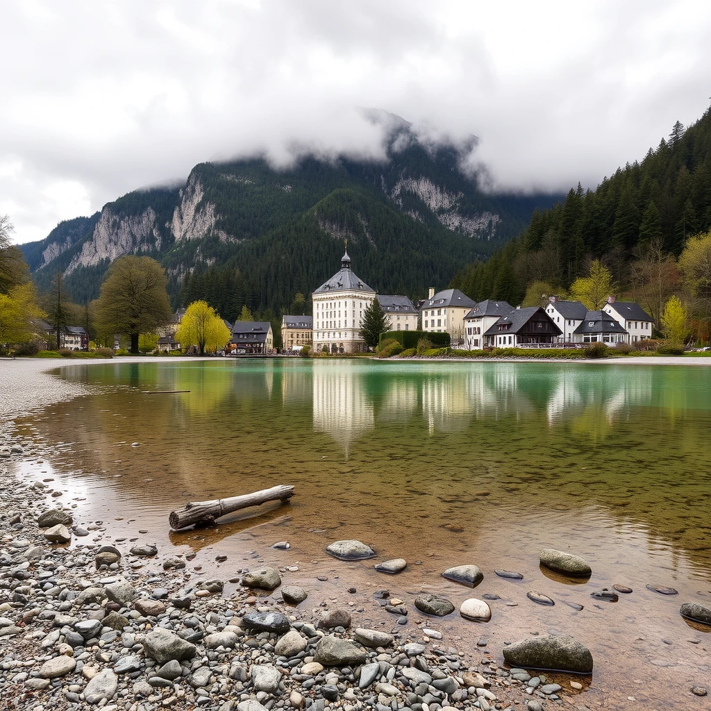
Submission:
{"label": "clear shallow lake, green far out and brown near the pebbles", "polygon": [[[85,520],[116,519],[117,535],[147,530],[161,546],[195,552],[206,573],[219,570],[220,554],[230,570],[257,557],[297,564],[292,580],[320,591],[314,600],[351,584],[387,588],[406,602],[442,592],[457,607],[497,594],[491,623],[455,612],[437,629],[473,646],[484,637],[484,651],[499,660],[504,641],[573,634],[595,658],[588,698],[624,704],[670,690],[688,697],[711,671],[711,627],[678,614],[682,602],[711,606],[710,373],[683,365],[144,360],[67,370],[63,377],[97,393],[18,426],[53,451],[28,471],[60,479]],[[167,531],[169,511],[187,501],[277,483],[295,486],[289,506],[270,504],[210,530]],[[378,557],[343,563],[324,554],[343,538],[367,542]],[[279,540],[292,548],[269,550]],[[591,579],[540,568],[542,547],[584,557]],[[394,557],[408,561],[405,572],[373,571]],[[440,577],[464,563],[484,574],[474,592]],[[503,580],[495,569],[524,579]],[[590,597],[613,584],[634,592],[616,603]],[[532,589],[556,605],[530,602]]]}

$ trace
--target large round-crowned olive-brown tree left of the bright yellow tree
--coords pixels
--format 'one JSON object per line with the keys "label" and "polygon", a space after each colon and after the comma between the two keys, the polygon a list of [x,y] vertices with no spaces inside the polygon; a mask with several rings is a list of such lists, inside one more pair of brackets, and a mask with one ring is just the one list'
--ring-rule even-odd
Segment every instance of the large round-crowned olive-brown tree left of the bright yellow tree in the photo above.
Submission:
{"label": "large round-crowned olive-brown tree left of the bright yellow tree", "polygon": [[172,315],[166,292],[166,274],[151,257],[115,260],[97,302],[97,317],[107,331],[131,336],[131,353],[138,353],[141,333],[155,331]]}

